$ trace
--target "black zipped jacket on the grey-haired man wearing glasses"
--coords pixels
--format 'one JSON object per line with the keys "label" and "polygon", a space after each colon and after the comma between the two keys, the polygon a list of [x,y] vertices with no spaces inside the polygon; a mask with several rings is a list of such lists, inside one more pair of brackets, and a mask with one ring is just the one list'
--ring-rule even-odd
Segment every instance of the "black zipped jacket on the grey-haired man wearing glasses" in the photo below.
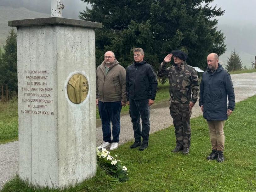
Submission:
{"label": "black zipped jacket on the grey-haired man wearing glasses", "polygon": [[134,62],[126,70],[127,100],[155,100],[157,80],[153,67],[146,60]]}

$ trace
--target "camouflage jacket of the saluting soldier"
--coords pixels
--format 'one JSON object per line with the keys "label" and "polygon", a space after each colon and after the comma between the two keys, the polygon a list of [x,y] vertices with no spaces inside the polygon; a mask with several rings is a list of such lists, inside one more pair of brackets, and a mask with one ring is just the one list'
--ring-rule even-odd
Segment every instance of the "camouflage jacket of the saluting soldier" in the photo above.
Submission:
{"label": "camouflage jacket of the saluting soldier", "polygon": [[[196,103],[199,91],[198,77],[196,70],[182,63],[180,67],[172,65],[166,67],[166,62],[163,61],[159,66],[157,76],[168,76],[170,83],[170,101],[174,103]],[[192,97],[191,97],[192,92]]]}

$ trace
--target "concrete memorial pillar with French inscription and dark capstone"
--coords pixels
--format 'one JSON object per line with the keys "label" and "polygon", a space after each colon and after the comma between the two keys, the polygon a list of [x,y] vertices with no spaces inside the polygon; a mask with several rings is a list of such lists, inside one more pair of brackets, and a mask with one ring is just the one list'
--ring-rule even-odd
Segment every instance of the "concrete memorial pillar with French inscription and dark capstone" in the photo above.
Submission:
{"label": "concrete memorial pillar with French inscription and dark capstone", "polygon": [[17,27],[19,174],[40,186],[96,172],[95,36],[101,23],[60,17]]}

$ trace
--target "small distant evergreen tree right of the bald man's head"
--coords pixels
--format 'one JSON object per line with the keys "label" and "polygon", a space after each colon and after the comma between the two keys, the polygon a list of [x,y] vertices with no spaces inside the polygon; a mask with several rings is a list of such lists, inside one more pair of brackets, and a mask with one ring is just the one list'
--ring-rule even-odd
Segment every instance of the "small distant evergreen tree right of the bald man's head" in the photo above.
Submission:
{"label": "small distant evergreen tree right of the bald man's head", "polygon": [[227,60],[227,65],[226,65],[227,71],[239,71],[243,69],[243,64],[241,61],[241,58],[236,51],[232,51],[232,54]]}

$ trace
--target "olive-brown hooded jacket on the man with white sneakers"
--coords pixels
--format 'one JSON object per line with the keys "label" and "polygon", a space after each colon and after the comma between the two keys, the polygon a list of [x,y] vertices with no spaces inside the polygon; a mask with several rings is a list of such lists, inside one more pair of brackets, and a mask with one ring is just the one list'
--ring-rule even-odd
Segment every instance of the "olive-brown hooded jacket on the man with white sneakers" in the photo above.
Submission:
{"label": "olive-brown hooded jacket on the man with white sneakers", "polygon": [[114,60],[105,74],[103,61],[96,70],[96,99],[101,102],[123,101],[126,103],[125,69]]}

